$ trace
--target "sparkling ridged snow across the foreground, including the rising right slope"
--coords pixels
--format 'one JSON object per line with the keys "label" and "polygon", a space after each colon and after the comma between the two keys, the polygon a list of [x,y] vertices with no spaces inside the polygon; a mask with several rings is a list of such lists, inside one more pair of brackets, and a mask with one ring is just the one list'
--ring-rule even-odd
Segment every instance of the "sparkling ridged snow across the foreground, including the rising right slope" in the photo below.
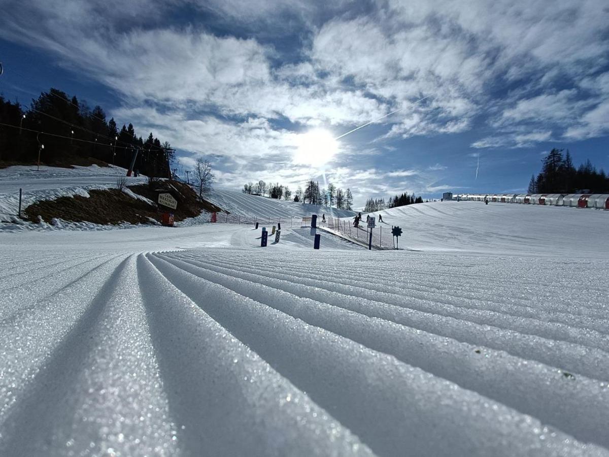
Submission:
{"label": "sparkling ridged snow across the foreground, including the rising right slope", "polygon": [[609,211],[414,206],[0,235],[0,455],[609,455]]}

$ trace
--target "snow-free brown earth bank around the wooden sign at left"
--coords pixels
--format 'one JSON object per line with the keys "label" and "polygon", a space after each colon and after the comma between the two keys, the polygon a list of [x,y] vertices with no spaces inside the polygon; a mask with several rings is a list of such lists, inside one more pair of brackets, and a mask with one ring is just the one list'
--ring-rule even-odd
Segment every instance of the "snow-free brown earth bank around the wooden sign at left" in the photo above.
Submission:
{"label": "snow-free brown earth bank around the wooden sign at left", "polygon": [[159,193],[171,193],[178,200],[176,210],[152,205],[142,200],[136,200],[118,189],[89,191],[90,197],[61,197],[56,200],[42,200],[27,207],[24,211],[26,218],[38,222],[41,216],[45,222],[51,219],[63,219],[71,222],[93,222],[94,224],[150,224],[148,218],[161,221],[164,211],[174,213],[175,221],[199,216],[202,210],[222,211],[209,202],[197,201],[197,195],[192,188],[184,183],[175,181],[158,181],[150,185],[142,184],[129,186],[130,190],[153,202],[158,200]]}

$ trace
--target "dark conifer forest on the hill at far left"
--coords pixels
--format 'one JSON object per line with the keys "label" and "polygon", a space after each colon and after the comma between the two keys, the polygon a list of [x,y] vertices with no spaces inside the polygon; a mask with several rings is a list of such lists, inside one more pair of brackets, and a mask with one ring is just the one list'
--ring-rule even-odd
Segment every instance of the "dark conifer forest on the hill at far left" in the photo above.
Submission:
{"label": "dark conifer forest on the hill at far left", "polygon": [[137,150],[134,170],[169,177],[175,153],[169,143],[161,143],[152,132],[144,140],[131,123],[119,129],[114,118],[107,121],[99,105],[90,109],[86,102],[60,90],[41,93],[29,108],[0,95],[0,119],[4,124],[0,125],[0,161],[4,163],[35,163],[40,151],[40,162],[47,165],[91,165],[97,160],[129,168]]}

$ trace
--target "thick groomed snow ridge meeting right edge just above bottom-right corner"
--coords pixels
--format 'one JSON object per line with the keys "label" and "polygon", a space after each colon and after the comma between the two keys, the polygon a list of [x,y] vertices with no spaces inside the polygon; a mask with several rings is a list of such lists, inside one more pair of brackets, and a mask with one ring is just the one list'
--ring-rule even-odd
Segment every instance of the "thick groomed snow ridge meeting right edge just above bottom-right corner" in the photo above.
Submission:
{"label": "thick groomed snow ridge meeting right edge just above bottom-right corner", "polygon": [[[485,354],[479,355],[474,351],[477,347],[470,344],[420,333],[394,322],[370,318],[340,307],[326,306],[325,303],[258,282],[211,272],[202,267],[193,269],[174,257],[157,257],[167,258],[174,266],[197,277],[222,285],[310,325],[350,338],[370,349],[393,355],[404,363],[479,392],[563,431],[570,430],[577,439],[609,445],[609,437],[605,438],[603,433],[604,424],[609,420],[609,410],[605,408],[609,391],[601,388],[595,380],[578,377],[581,383],[571,383],[554,367],[526,361],[505,352],[485,349]],[[451,347],[450,352],[446,352],[446,346]],[[420,353],[421,347],[426,348],[425,353]],[[561,398],[577,399],[580,405],[588,405],[586,410],[590,415],[582,422],[581,417],[568,414],[571,406],[552,401],[556,391],[538,391],[537,386],[548,382],[557,383]]]}

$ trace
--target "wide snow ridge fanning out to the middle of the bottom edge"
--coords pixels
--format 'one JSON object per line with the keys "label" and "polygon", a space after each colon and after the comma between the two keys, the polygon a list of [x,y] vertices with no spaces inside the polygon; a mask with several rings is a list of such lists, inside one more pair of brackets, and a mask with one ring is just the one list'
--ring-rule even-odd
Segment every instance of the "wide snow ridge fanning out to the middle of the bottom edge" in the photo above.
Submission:
{"label": "wide snow ridge fanning out to the middle of the bottom edge", "polygon": [[[146,285],[141,294],[169,411],[185,425],[177,428],[184,452],[196,455],[206,447],[218,455],[372,455],[142,255],[138,277]],[[172,336],[178,334],[191,339]]]}

